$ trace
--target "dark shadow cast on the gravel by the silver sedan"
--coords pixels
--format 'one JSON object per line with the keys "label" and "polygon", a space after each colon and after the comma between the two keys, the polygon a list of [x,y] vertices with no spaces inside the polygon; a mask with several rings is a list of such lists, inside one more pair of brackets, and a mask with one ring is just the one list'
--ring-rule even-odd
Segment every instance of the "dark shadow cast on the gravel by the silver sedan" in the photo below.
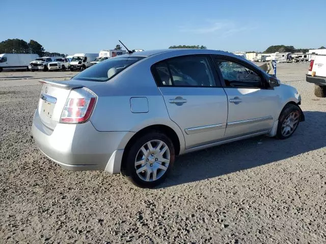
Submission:
{"label": "dark shadow cast on the gravel by the silver sedan", "polygon": [[306,121],[285,140],[253,137],[177,157],[166,188],[287,159],[326,146],[326,112],[304,111]]}

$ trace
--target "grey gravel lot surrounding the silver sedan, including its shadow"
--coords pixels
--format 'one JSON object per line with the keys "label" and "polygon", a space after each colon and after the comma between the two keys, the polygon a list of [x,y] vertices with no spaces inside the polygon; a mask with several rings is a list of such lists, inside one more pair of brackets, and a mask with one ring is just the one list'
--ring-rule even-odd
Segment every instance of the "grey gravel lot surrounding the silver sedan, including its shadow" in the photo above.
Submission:
{"label": "grey gravel lot surrounding the silver sedan, including its shadow", "polygon": [[66,171],[40,153],[30,129],[41,85],[31,78],[75,73],[0,73],[0,243],[325,243],[326,99],[305,81],[308,66],[278,65],[306,115],[291,138],[179,157],[154,190]]}

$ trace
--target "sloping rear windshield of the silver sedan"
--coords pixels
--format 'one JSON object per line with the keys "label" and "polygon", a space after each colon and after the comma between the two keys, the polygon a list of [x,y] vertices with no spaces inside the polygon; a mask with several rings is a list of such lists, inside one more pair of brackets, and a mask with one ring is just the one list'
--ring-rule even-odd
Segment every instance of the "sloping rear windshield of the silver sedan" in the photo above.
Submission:
{"label": "sloping rear windshield of the silver sedan", "polygon": [[104,60],[74,76],[75,80],[107,81],[144,57],[123,56]]}

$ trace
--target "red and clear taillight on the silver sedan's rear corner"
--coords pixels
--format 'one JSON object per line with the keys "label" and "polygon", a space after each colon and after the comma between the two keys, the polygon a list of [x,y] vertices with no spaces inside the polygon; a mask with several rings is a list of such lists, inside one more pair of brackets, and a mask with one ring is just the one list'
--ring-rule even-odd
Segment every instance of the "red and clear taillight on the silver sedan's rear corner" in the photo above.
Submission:
{"label": "red and clear taillight on the silver sedan's rear corner", "polygon": [[86,122],[91,117],[96,99],[96,95],[86,88],[71,90],[60,122],[72,124]]}

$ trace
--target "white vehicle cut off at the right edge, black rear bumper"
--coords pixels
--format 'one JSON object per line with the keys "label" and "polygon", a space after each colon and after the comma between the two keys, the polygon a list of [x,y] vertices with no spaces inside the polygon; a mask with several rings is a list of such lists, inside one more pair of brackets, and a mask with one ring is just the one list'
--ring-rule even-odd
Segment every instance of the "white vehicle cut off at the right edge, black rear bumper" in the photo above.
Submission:
{"label": "white vehicle cut off at the right edge, black rear bumper", "polygon": [[310,60],[306,81],[315,84],[315,96],[326,98],[326,55],[314,55]]}

